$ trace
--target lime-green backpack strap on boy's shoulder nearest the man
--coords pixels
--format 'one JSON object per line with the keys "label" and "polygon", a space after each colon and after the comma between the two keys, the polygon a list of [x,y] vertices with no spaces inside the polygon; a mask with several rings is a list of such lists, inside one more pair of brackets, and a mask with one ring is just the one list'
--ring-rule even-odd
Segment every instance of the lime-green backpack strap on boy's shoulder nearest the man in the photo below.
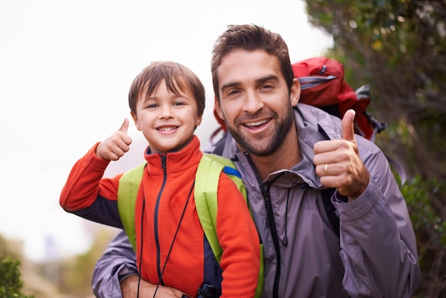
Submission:
{"label": "lime-green backpack strap on boy's shoulder nearest the man", "polygon": [[[218,262],[222,259],[223,252],[217,237],[217,190],[222,171],[237,185],[240,192],[242,192],[245,202],[248,203],[247,190],[232,160],[219,155],[205,153],[199,162],[195,175],[195,207],[204,234]],[[255,297],[261,297],[263,285],[264,258],[262,243],[260,245],[260,270]]]}

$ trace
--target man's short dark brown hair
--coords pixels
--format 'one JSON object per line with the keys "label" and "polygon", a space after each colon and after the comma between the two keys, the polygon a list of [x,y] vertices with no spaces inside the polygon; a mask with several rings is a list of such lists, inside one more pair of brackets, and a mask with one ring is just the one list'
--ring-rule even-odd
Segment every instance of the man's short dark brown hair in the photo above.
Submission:
{"label": "man's short dark brown hair", "polygon": [[288,46],[280,34],[256,25],[229,25],[227,31],[217,38],[212,50],[211,72],[214,96],[220,101],[218,90],[217,68],[227,54],[236,50],[257,51],[263,50],[279,59],[282,74],[286,85],[291,90],[294,74],[291,68]]}

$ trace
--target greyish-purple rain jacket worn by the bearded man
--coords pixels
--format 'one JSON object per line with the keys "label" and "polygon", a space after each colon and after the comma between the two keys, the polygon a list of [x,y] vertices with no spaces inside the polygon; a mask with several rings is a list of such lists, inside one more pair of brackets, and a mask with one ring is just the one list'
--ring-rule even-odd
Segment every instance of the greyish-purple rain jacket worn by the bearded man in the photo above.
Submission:
{"label": "greyish-purple rain jacket worn by the bearded man", "polygon": [[[342,202],[337,192],[333,194],[341,222],[339,238],[323,207],[313,145],[341,138],[341,121],[302,103],[294,115],[301,161],[270,173],[264,181],[229,134],[224,144],[223,155],[233,158],[242,173],[264,242],[263,297],[410,297],[421,282],[415,234],[385,155],[356,136],[370,181],[353,202]],[[100,293],[119,291],[120,270],[128,273],[134,266],[135,260],[125,257],[128,250],[120,251],[127,246],[116,245],[108,247],[95,267],[93,288],[98,297],[114,297]]]}

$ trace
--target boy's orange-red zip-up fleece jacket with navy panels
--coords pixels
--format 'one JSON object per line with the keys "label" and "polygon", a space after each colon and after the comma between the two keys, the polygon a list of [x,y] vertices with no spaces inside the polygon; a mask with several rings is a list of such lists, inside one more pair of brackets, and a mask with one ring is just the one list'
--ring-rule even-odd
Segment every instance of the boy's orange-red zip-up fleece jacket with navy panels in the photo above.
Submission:
{"label": "boy's orange-red zip-up fleece jacket with navy panels", "polygon": [[[122,227],[117,207],[113,208],[116,204],[107,204],[107,201],[117,200],[122,174],[102,178],[109,161],[94,154],[96,146],[74,165],[61,192],[60,203],[68,212]],[[204,280],[204,232],[193,197],[193,183],[201,157],[196,136],[180,152],[145,154],[147,167],[135,210],[138,267],[142,249],[140,274],[153,284],[159,280],[158,271],[165,264],[180,217],[185,212],[162,281],[192,297]],[[256,227],[242,194],[224,173],[220,175],[217,195],[217,237],[223,250],[220,262],[222,297],[254,297],[259,272]],[[105,202],[98,202],[100,200]]]}

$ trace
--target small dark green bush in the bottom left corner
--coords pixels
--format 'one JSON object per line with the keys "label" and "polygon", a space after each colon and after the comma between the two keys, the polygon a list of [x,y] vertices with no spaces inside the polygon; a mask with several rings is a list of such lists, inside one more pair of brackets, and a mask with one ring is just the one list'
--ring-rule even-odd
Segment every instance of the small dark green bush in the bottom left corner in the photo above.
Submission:
{"label": "small dark green bush in the bottom left corner", "polygon": [[0,257],[0,297],[33,298],[21,293],[24,283],[19,271],[20,264],[13,257]]}

